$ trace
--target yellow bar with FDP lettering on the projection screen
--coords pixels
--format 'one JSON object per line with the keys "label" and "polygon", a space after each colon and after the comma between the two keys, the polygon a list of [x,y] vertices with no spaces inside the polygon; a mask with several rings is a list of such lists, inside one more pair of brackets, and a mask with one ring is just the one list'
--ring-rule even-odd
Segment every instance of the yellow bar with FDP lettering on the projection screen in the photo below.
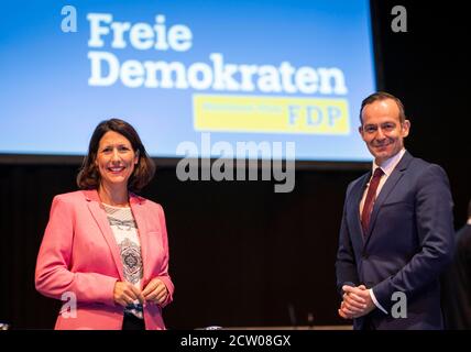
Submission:
{"label": "yellow bar with FDP lettering on the projection screen", "polygon": [[194,95],[196,131],[348,134],[347,99]]}

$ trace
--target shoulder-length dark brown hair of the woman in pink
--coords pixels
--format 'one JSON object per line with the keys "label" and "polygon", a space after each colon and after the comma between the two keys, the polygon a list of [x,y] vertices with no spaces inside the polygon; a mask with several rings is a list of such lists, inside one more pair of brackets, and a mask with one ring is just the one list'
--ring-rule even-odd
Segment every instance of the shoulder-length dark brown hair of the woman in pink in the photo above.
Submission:
{"label": "shoulder-length dark brown hair of the woman in pink", "polygon": [[113,131],[125,136],[131,143],[134,153],[138,154],[139,161],[134,167],[131,177],[128,180],[128,189],[140,191],[147,185],[155,173],[155,164],[147,155],[144,145],[139,138],[138,132],[128,122],[120,119],[110,119],[101,121],[91,135],[88,145],[88,153],[77,175],[77,185],[80,189],[98,189],[100,185],[100,173],[95,164],[98,154],[98,146],[105,133]]}

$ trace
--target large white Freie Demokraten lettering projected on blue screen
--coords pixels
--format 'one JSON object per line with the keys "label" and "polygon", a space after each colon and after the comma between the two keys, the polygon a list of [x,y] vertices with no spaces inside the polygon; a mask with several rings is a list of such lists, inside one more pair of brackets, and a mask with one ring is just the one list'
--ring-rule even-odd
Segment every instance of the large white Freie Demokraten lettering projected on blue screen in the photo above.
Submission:
{"label": "large white Freie Demokraten lettering projected on blue screen", "polygon": [[[280,65],[229,64],[222,53],[209,53],[208,62],[185,64],[178,61],[120,61],[119,50],[186,52],[193,47],[191,30],[184,24],[165,24],[165,15],[155,22],[118,22],[110,13],[88,13],[90,36],[90,86],[129,88],[196,89],[263,94],[338,95],[348,92],[343,72],[338,67],[295,67],[288,61]],[[109,51],[97,51],[109,44]],[[113,52],[111,52],[113,51]]]}

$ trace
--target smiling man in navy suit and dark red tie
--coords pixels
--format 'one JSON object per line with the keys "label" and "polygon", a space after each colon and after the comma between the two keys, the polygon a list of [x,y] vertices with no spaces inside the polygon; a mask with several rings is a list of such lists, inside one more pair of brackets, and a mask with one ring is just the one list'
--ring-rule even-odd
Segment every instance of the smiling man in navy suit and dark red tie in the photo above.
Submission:
{"label": "smiling man in navy suit and dark red tie", "polygon": [[347,189],[339,315],[354,329],[442,329],[439,275],[453,253],[447,175],[405,151],[410,122],[396,97],[365,98],[360,120],[374,162]]}

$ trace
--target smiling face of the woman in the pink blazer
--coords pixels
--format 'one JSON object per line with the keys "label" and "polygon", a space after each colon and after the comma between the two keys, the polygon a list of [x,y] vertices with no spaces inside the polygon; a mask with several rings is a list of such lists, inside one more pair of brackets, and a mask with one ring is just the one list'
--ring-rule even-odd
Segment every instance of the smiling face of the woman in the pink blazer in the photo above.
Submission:
{"label": "smiling face of the woman in the pink blazer", "polygon": [[100,173],[101,184],[108,187],[128,187],[128,179],[138,164],[139,155],[131,142],[122,134],[108,131],[98,145],[95,161]]}

